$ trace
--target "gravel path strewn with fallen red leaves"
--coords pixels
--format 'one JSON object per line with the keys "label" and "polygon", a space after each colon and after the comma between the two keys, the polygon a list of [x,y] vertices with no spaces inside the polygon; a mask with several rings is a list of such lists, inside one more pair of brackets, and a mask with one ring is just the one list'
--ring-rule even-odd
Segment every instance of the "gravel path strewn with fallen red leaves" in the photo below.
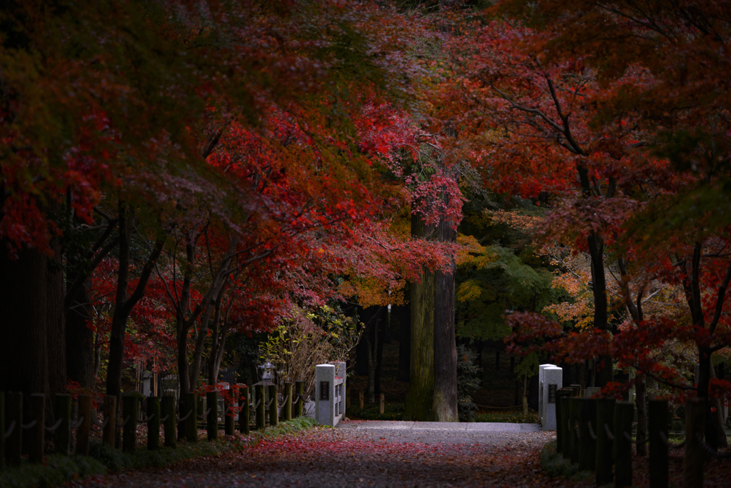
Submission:
{"label": "gravel path strewn with fallen red leaves", "polygon": [[[481,427],[480,427],[481,426]],[[517,427],[516,427],[517,426]],[[129,471],[88,487],[550,487],[526,424],[344,422],[218,458]],[[565,483],[565,481],[564,481]],[[591,485],[587,485],[591,486]]]}

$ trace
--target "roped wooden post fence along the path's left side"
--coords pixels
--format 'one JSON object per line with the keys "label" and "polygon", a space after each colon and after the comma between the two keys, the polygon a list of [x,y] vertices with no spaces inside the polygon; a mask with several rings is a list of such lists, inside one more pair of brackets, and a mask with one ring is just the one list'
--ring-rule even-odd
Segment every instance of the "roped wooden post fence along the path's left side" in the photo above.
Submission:
{"label": "roped wooden post fence along the path's left side", "polygon": [[[295,392],[292,392],[294,387]],[[257,387],[258,388],[258,387]],[[262,388],[263,389],[263,388]],[[269,409],[269,425],[276,425],[279,417],[291,420],[292,416],[302,415],[304,400],[304,382],[286,383],[284,401],[281,408],[278,404],[276,386],[271,386],[270,399],[262,402],[263,394],[257,392],[257,402],[249,402],[249,387],[238,388],[238,407],[224,402],[223,429],[226,435],[235,433],[235,412],[238,410],[239,430],[244,435],[251,432],[251,409],[257,412],[255,427],[266,427],[263,415],[264,407]],[[262,391],[263,393],[263,391]],[[196,394],[181,395],[178,411],[175,409],[173,396],[146,397],[146,411],[140,413],[140,400],[135,396],[122,397],[121,418],[117,420],[117,398],[107,396],[99,410],[103,421],[93,424],[92,397],[79,395],[77,399],[77,418],[72,420],[72,396],[56,394],[54,414],[56,421],[48,425],[45,421],[45,395],[31,394],[26,406],[30,419],[23,419],[23,394],[0,391],[0,470],[6,465],[20,465],[23,454],[28,455],[30,462],[43,462],[46,447],[46,434],[53,437],[53,449],[56,454],[88,455],[91,432],[101,432],[102,443],[115,447],[117,432],[121,431],[121,448],[124,452],[133,452],[137,448],[137,424],[147,424],[147,448],[155,451],[160,448],[161,430],[164,446],[176,448],[178,438],[187,442],[198,440],[198,420],[205,421],[208,440],[216,440],[219,431],[219,417],[215,391],[206,394],[208,405],[202,416],[196,413]],[[293,408],[294,407],[294,408]],[[294,411],[292,411],[294,410]],[[261,412],[261,414],[260,414]],[[294,415],[293,415],[294,414]],[[176,429],[176,426],[178,427]],[[176,432],[177,430],[177,432]],[[74,435],[75,433],[75,435]],[[23,438],[26,438],[25,442]],[[73,442],[75,439],[75,443]],[[23,451],[26,449],[26,451]]]}

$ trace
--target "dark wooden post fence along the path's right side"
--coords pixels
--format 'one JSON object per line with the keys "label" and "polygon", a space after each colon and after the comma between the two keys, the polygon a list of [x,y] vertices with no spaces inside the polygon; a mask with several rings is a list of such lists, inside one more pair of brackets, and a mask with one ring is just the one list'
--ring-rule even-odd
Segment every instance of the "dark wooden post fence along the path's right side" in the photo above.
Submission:
{"label": "dark wooden post fence along the path's right side", "polygon": [[692,398],[686,402],[682,442],[673,440],[670,434],[671,426],[678,438],[683,432],[679,432],[677,419],[670,419],[667,401],[651,400],[648,402],[648,435],[637,440],[634,402],[580,398],[569,388],[562,389],[564,391],[559,390],[556,395],[556,449],[580,470],[593,470],[596,486],[610,483],[617,488],[632,486],[632,446],[644,443],[649,446],[651,487],[669,486],[671,449],[684,449],[685,487],[702,487],[703,465],[708,459],[731,458],[731,448],[719,451],[704,437],[708,408],[702,399]]}

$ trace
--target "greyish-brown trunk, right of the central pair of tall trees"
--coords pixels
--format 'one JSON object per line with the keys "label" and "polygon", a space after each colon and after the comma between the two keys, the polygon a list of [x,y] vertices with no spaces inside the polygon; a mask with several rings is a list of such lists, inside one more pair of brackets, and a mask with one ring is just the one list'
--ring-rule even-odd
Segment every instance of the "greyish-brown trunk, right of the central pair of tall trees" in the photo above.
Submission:
{"label": "greyish-brown trunk, right of the central pair of tall trees", "polygon": [[[457,232],[449,222],[439,223],[439,240],[454,242]],[[457,345],[455,339],[455,270],[435,276],[433,416],[439,422],[458,421]]]}

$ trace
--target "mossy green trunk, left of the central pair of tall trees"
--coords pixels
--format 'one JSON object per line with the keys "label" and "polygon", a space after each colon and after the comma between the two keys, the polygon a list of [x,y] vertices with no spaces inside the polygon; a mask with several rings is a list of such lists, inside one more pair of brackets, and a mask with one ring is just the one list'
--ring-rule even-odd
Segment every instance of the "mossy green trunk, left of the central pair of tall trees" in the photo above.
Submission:
{"label": "mossy green trunk, left of the central pair of tall trees", "polygon": [[[428,239],[434,232],[412,215],[412,236]],[[411,367],[404,420],[431,421],[434,393],[434,274],[425,271],[411,284]]]}

